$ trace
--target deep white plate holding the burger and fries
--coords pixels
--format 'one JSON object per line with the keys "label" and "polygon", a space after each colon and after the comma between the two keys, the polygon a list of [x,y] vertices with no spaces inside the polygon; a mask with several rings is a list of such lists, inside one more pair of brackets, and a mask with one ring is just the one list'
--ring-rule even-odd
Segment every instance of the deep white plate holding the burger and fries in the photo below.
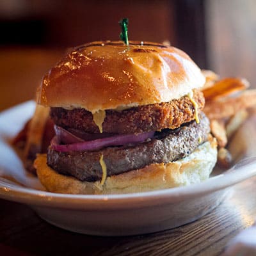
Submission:
{"label": "deep white plate holding the burger and fries", "polygon": [[[199,185],[126,195],[49,193],[24,170],[8,144],[32,115],[34,107],[33,102],[25,102],[0,114],[0,198],[28,204],[44,220],[67,230],[125,236],[178,227],[204,216],[227,197],[230,186],[256,175],[253,157],[245,167],[214,175]],[[255,127],[255,120],[252,118],[245,125],[249,125],[246,129]],[[250,141],[250,145],[256,145],[252,135]],[[243,149],[243,157],[252,155],[249,148]]]}

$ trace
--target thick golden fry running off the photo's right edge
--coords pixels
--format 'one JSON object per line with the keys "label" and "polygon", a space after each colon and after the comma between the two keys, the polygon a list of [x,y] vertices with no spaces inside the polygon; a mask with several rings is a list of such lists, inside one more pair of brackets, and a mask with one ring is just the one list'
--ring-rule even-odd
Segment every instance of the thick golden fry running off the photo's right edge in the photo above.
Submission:
{"label": "thick golden fry running off the photo's right edge", "polygon": [[256,105],[256,89],[246,90],[237,97],[207,101],[204,113],[211,119],[228,118],[236,115],[241,109]]}

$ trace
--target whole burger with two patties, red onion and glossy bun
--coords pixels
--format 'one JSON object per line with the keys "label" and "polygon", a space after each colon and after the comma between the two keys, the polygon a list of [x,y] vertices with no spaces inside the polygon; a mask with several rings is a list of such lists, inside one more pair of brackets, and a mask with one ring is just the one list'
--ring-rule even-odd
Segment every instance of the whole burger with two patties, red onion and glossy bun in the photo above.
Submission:
{"label": "whole burger with two patties, red onion and glossy bun", "polygon": [[45,74],[55,136],[35,168],[48,191],[117,194],[197,184],[216,163],[200,68],[175,47],[92,42]]}

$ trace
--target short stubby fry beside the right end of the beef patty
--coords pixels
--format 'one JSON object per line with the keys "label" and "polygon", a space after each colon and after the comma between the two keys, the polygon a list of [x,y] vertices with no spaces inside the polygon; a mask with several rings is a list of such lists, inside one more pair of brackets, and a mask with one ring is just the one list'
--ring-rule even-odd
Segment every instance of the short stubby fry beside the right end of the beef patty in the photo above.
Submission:
{"label": "short stubby fry beside the right end of the beef patty", "polygon": [[213,136],[216,138],[218,146],[220,148],[225,147],[225,145],[227,145],[228,140],[224,123],[220,120],[211,120],[210,126],[211,132]]}

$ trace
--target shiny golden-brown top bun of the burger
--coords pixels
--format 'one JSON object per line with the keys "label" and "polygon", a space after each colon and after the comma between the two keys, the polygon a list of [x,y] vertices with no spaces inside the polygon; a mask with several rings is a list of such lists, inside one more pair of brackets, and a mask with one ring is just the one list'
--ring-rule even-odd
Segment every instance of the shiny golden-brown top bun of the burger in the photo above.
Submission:
{"label": "shiny golden-brown top bun of the burger", "polygon": [[92,42],[74,48],[45,74],[38,104],[104,109],[168,102],[203,86],[189,56],[150,42]]}

